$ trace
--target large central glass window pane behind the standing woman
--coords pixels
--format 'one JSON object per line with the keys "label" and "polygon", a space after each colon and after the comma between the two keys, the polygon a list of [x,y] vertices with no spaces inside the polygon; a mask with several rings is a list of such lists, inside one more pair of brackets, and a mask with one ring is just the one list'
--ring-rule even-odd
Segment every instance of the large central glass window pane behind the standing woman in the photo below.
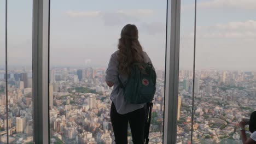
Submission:
{"label": "large central glass window pane behind the standing woman", "polygon": [[51,2],[51,142],[114,142],[109,115],[112,88],[104,76],[127,23],[138,27],[139,41],[156,68],[158,86],[149,139],[162,143],[166,1]]}

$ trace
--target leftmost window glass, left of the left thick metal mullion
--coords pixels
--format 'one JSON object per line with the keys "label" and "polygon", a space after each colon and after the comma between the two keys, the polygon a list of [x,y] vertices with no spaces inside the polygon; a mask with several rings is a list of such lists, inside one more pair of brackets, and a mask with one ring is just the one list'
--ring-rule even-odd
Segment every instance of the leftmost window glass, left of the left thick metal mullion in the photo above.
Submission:
{"label": "leftmost window glass, left of the left thick metal mullion", "polygon": [[[33,142],[33,111],[32,111],[32,2],[8,1],[8,37],[7,63],[8,71],[4,77],[0,76],[1,114],[4,100],[8,103],[8,120],[1,116],[2,143],[32,143]],[[1,2],[2,5],[5,3]],[[2,11],[2,8],[1,8]],[[1,17],[2,17],[1,13]],[[4,52],[2,49],[2,19],[1,19],[1,73]],[[4,37],[5,38],[5,37]],[[2,61],[3,60],[3,61]],[[3,90],[2,80],[7,79],[7,95]],[[6,89],[5,89],[6,90]],[[8,125],[8,128],[7,126]],[[7,131],[9,132],[7,139]],[[5,132],[4,132],[5,131]]]}

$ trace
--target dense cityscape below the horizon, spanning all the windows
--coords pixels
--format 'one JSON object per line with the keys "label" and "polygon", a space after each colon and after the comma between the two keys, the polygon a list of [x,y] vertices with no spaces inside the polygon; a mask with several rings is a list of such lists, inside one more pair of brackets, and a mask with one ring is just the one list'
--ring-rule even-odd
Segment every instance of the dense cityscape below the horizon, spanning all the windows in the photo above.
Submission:
{"label": "dense cityscape below the horizon, spanning all the windows", "polygon": [[[0,136],[7,143],[5,78],[8,78],[9,143],[32,143],[32,70],[0,71]],[[157,69],[150,144],[162,143],[164,70]],[[114,143],[104,68],[51,68],[50,142]],[[256,73],[201,70],[195,73],[193,143],[241,143],[237,123],[256,109]],[[193,71],[180,70],[177,143],[191,143]],[[248,130],[248,129],[247,129]],[[131,143],[131,132],[128,133]]]}

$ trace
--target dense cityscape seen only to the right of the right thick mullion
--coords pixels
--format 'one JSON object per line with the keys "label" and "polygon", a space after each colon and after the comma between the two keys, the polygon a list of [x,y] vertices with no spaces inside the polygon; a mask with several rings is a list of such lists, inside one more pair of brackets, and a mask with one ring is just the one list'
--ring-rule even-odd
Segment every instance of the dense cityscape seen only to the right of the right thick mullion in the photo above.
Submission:
{"label": "dense cityscape seen only to the right of the right thick mullion", "polygon": [[[192,71],[181,70],[179,82],[177,143],[181,144],[191,140]],[[237,124],[256,110],[256,73],[196,71],[194,92],[193,143],[241,143]]]}

